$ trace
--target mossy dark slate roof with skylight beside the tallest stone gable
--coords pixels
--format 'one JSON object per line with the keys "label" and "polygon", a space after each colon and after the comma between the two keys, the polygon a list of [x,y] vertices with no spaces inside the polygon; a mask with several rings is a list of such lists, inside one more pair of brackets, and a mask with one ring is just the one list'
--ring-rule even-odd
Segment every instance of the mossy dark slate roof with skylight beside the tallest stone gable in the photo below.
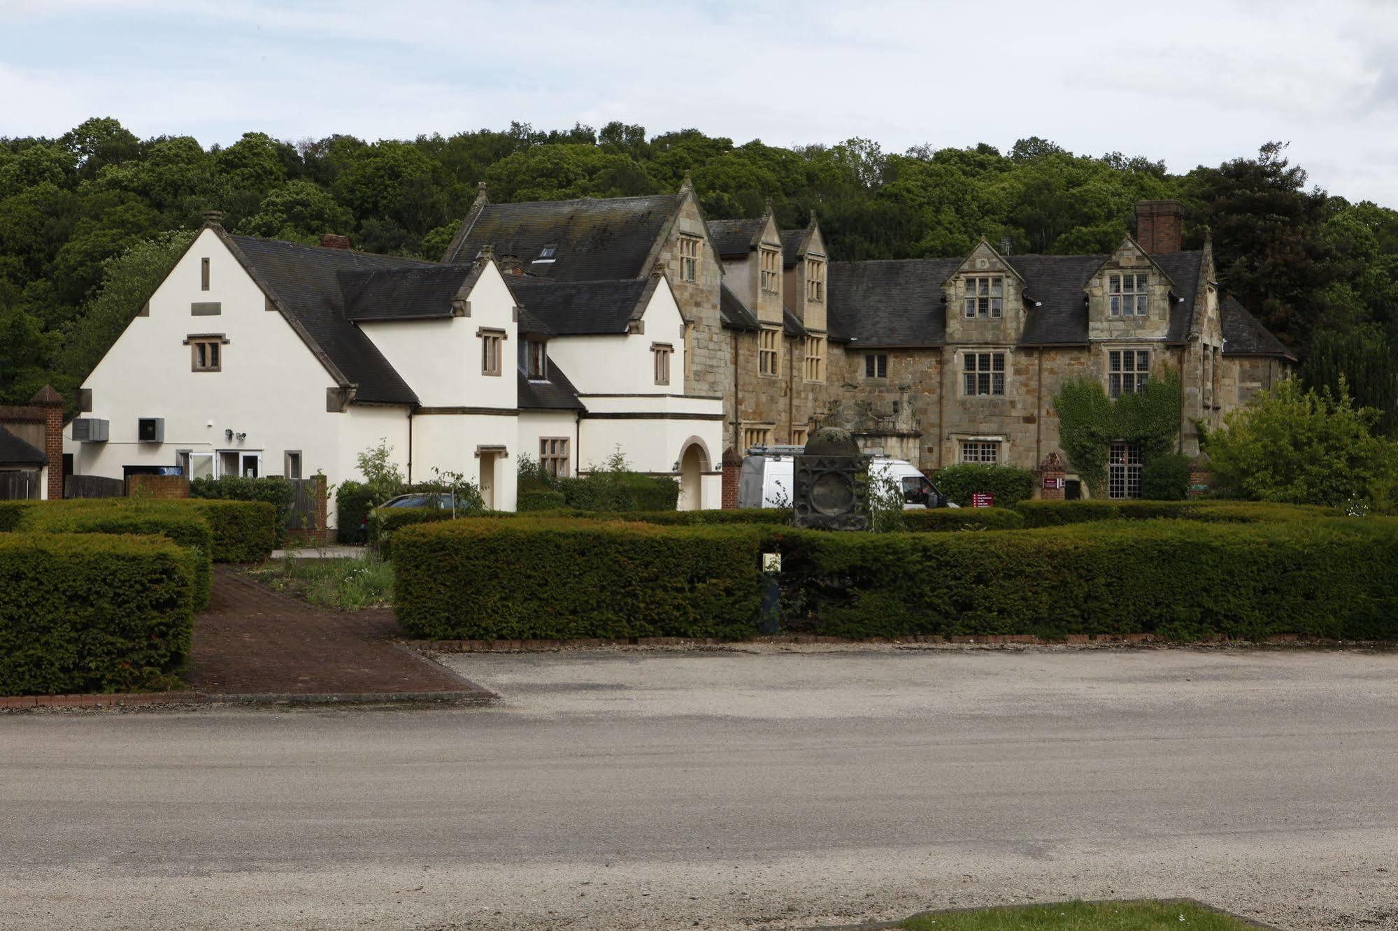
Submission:
{"label": "mossy dark slate roof with skylight beside the tallest stone gable", "polygon": [[[485,204],[468,214],[443,263],[470,263],[482,246],[519,256],[531,275],[555,281],[636,278],[684,194]],[[554,261],[535,261],[554,246]]]}

